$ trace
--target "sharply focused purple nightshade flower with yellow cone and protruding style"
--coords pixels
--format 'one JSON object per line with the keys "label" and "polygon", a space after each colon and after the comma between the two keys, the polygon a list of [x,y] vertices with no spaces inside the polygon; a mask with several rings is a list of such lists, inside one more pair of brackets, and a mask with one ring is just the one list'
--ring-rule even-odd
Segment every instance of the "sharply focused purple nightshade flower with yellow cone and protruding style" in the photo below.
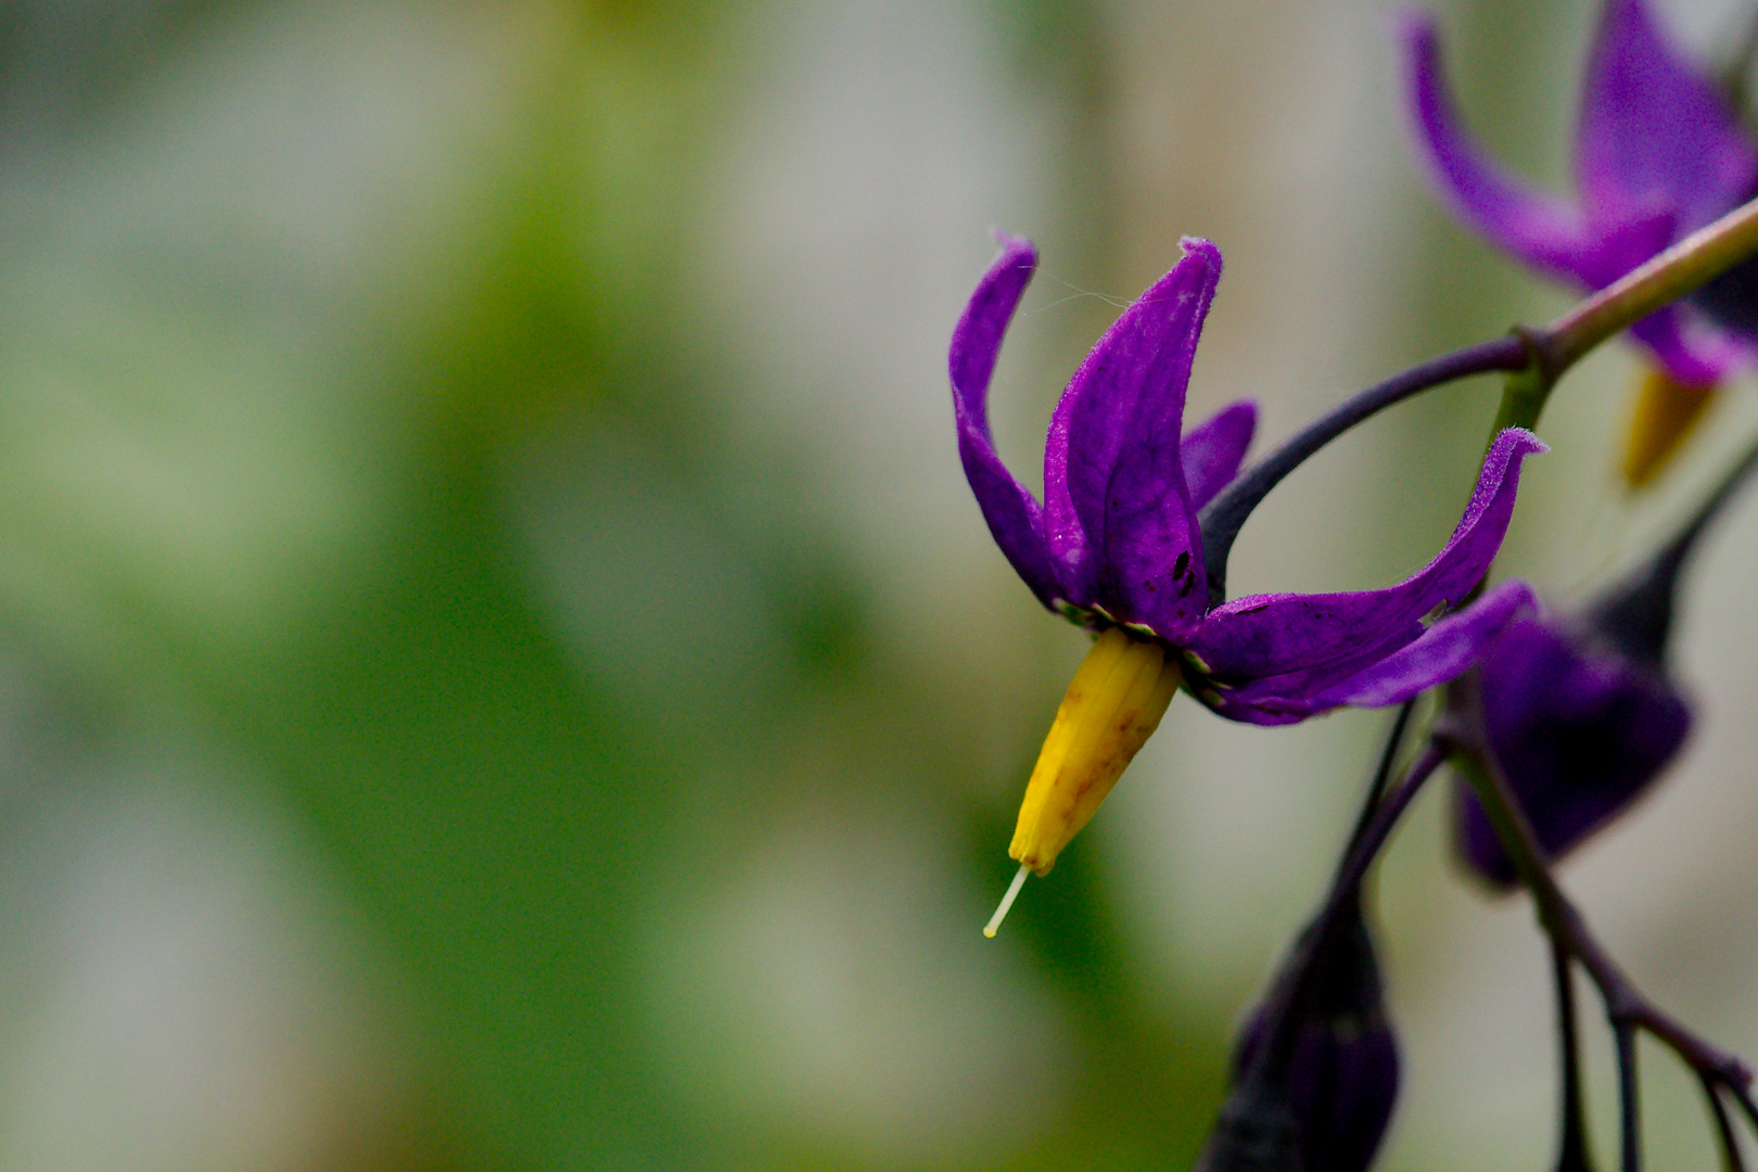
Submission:
{"label": "sharply focused purple nightshade flower with yellow cone and protruding style", "polygon": [[[1210,604],[1197,510],[1239,469],[1255,409],[1238,402],[1180,441],[1197,334],[1220,281],[1220,251],[1183,258],[1076,371],[1044,445],[1044,503],[1002,466],[988,385],[1002,334],[1037,265],[1000,235],[951,344],[958,453],[995,543],[1037,599],[1097,634],[1027,784],[1009,854],[1050,872],[1093,815],[1183,685],[1232,720],[1292,724],[1341,705],[1385,705],[1450,680],[1529,604],[1505,583],[1457,606],[1507,531],[1529,432],[1501,432],[1445,548],[1408,580],[1352,594],[1259,594]],[[1429,626],[1433,622],[1433,626]]]}

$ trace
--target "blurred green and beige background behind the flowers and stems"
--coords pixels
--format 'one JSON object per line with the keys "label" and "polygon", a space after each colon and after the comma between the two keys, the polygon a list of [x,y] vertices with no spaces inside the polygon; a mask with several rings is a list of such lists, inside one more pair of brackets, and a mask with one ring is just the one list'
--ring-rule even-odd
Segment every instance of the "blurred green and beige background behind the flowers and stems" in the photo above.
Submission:
{"label": "blurred green and beige background behind the flowers and stems", "polygon": [[[1083,641],[986,538],[944,346],[986,228],[1032,235],[995,423],[1035,480],[1181,234],[1229,260],[1192,411],[1257,395],[1266,441],[1566,304],[1422,192],[1389,11],[0,5],[0,1167],[1188,1165],[1385,717],[1174,705],[984,942]],[[1473,125],[1565,184],[1593,5],[1443,16]],[[1733,388],[1623,501],[1630,369],[1522,492],[1505,566],[1563,603],[1758,425]],[[1326,452],[1234,589],[1426,561],[1493,397]],[[1747,1054],[1754,513],[1695,578],[1686,763],[1566,873]],[[1544,952],[1442,807],[1378,900],[1384,1167],[1542,1167]],[[1656,1167],[1707,1165],[1647,1074]]]}

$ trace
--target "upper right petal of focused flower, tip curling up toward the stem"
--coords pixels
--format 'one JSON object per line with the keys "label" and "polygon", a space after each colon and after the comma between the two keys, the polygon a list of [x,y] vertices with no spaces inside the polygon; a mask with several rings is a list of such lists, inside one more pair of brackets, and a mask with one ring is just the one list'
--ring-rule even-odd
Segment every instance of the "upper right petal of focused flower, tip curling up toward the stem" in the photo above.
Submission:
{"label": "upper right petal of focused flower, tip curling up toward the stem", "polygon": [[1510,427],[1496,436],[1471,503],[1445,548],[1405,582],[1350,594],[1259,594],[1215,608],[1185,647],[1220,685],[1222,715],[1260,724],[1278,703],[1299,706],[1422,636],[1422,620],[1459,604],[1489,569],[1507,532],[1521,462],[1545,445]]}

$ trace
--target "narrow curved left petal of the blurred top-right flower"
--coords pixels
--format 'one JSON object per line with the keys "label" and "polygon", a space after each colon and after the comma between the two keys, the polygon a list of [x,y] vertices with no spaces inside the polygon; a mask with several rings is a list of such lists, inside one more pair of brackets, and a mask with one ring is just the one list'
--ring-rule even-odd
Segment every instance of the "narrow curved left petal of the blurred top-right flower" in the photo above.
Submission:
{"label": "narrow curved left petal of the blurred top-right flower", "polygon": [[1580,267],[1591,250],[1580,213],[1510,177],[1461,125],[1447,93],[1435,18],[1401,14],[1398,39],[1417,142],[1442,197],[1471,227],[1526,264],[1584,279]]}

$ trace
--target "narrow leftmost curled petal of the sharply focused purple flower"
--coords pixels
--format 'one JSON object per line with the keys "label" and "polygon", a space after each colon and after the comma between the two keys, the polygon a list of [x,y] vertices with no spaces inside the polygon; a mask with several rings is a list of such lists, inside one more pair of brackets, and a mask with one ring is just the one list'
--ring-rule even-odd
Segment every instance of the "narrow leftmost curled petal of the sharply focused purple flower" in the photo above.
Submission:
{"label": "narrow leftmost curled petal of the sharply focused purple flower", "polygon": [[1007,473],[988,427],[988,385],[995,374],[995,357],[1013,311],[1032,281],[1037,250],[1030,241],[1013,235],[997,234],[997,242],[1000,255],[977,281],[970,304],[953,330],[948,365],[953,376],[953,415],[958,422],[958,459],[995,545],[1025,578],[1025,585],[1032,587],[1032,594],[1055,610],[1062,589],[1044,552],[1037,501]]}

